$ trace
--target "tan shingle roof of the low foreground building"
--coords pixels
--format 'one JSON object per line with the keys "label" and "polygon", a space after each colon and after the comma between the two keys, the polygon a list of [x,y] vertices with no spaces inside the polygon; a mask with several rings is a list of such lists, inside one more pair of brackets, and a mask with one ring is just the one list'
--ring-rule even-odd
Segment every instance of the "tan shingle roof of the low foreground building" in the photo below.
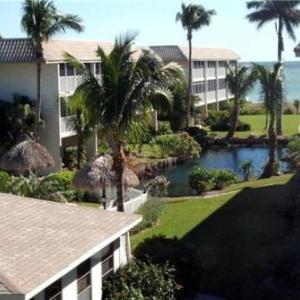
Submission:
{"label": "tan shingle roof of the low foreground building", "polygon": [[27,294],[52,277],[56,280],[65,268],[87,259],[88,251],[93,255],[140,219],[133,214],[0,193],[3,291]]}

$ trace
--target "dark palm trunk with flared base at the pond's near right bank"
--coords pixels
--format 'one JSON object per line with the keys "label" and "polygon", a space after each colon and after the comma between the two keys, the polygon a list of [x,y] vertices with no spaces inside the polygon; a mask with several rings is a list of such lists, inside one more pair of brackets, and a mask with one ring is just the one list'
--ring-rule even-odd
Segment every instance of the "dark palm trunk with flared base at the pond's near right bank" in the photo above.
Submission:
{"label": "dark palm trunk with flared base at the pond's near right bank", "polygon": [[277,150],[277,135],[275,132],[275,112],[270,113],[270,125],[269,125],[269,161],[266,164],[261,178],[268,178],[278,175],[276,170],[276,150]]}

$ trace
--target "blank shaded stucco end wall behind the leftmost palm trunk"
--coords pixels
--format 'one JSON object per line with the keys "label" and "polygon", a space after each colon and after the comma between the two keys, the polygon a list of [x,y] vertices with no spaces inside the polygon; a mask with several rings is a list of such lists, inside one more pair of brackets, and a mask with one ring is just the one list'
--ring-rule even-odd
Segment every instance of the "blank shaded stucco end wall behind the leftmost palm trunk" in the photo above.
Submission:
{"label": "blank shaded stucco end wall behind the leftmost palm trunk", "polygon": [[[0,99],[11,101],[15,93],[36,99],[36,66],[30,63],[0,64]],[[53,156],[60,170],[60,129],[58,70],[56,64],[42,65],[42,115],[46,122],[41,130],[41,143]]]}

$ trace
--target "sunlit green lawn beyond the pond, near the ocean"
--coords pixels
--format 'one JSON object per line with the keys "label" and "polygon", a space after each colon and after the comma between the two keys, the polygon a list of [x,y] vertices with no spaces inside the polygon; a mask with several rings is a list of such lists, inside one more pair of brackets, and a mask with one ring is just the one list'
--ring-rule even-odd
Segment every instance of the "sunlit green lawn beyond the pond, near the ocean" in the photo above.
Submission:
{"label": "sunlit green lawn beyond the pond, near the ocean", "polygon": [[[266,134],[264,130],[266,117],[264,115],[240,116],[242,122],[251,125],[251,131],[236,132],[236,137],[248,137],[250,134],[262,135]],[[284,135],[291,136],[298,133],[298,126],[300,125],[300,115],[284,115],[283,116],[283,131]],[[218,136],[225,136],[226,132],[214,132]]]}

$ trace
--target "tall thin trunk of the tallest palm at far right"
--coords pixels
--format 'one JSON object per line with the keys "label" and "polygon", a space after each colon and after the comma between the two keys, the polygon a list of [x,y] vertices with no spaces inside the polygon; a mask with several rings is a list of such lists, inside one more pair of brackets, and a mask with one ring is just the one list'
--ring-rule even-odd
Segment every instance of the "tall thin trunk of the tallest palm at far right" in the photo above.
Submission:
{"label": "tall thin trunk of the tallest palm at far right", "polygon": [[[283,23],[282,19],[279,18],[278,20],[278,46],[277,46],[277,57],[278,57],[278,64],[279,64],[279,79],[281,85],[283,85],[283,64],[282,64],[282,52],[284,50],[283,45]],[[282,135],[282,113],[283,113],[283,94],[281,95],[280,103],[278,103],[278,107],[276,109],[276,134]]]}

